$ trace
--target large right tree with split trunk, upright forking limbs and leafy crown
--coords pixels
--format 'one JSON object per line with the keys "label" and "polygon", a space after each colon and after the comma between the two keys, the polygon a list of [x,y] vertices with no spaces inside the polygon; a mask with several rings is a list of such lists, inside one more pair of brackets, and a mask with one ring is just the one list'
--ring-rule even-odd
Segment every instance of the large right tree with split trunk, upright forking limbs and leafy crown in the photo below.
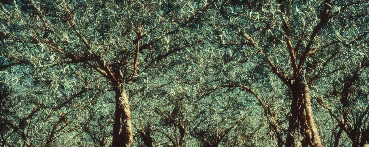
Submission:
{"label": "large right tree with split trunk, upright forking limbs and leafy crown", "polygon": [[[220,21],[212,23],[213,31],[208,36],[221,36],[224,43],[218,44],[225,51],[221,57],[213,59],[223,60],[219,65],[231,72],[224,75],[225,79],[218,76],[218,86],[211,89],[239,87],[254,95],[265,111],[270,127],[274,129],[278,146],[294,146],[296,129],[299,128],[300,137],[303,137],[300,140],[302,146],[321,147],[323,144],[313,117],[311,98],[332,93],[332,86],[337,93],[336,86],[345,83],[341,90],[344,93],[340,98],[342,107],[339,109],[346,109],[346,112],[341,111],[346,121],[337,117],[336,120],[340,128],[345,128],[342,130],[352,132],[345,126],[348,122],[345,119],[347,109],[352,104],[347,101],[351,95],[349,87],[368,64],[367,25],[355,24],[368,19],[368,2],[279,0],[234,3],[228,0],[223,1],[215,13],[213,19]],[[214,44],[218,42],[216,37],[212,39]],[[245,64],[255,65],[255,70],[248,70],[249,66]],[[241,71],[242,66],[247,69]],[[350,66],[354,66],[354,69]],[[266,71],[269,73],[265,73]],[[349,78],[335,78],[350,74],[352,76]],[[243,75],[248,80],[243,80]],[[274,83],[274,78],[282,83]],[[366,76],[363,78],[366,79]],[[284,129],[280,128],[282,122],[278,121],[279,108],[272,108],[275,107],[273,104],[265,104],[257,92],[259,89],[274,89],[274,93],[284,90],[290,93],[287,95],[291,100],[290,112],[284,114],[289,121],[285,140],[280,132]],[[277,98],[275,95],[270,98]],[[359,100],[356,103],[360,103]],[[328,106],[325,107],[329,110]],[[363,107],[365,109],[367,105]],[[362,119],[367,112],[361,112],[365,113],[356,114],[359,118],[356,127],[361,126],[363,121],[367,123],[366,119]],[[366,128],[365,125],[361,127],[364,130]],[[359,136],[366,140],[365,135],[359,135],[359,132],[354,134],[356,135],[350,137],[352,146],[358,146],[361,142],[358,140]]]}

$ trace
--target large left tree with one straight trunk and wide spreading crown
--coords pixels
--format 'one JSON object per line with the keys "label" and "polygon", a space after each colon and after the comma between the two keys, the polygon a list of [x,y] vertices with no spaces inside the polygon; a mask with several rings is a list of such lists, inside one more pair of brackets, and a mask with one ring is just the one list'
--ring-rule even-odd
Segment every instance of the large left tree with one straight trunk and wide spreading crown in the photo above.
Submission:
{"label": "large left tree with one straight trunk and wide spreading crown", "polygon": [[[79,79],[75,85],[81,84],[82,93],[97,90],[94,87],[102,76],[108,91],[115,93],[112,146],[130,146],[133,134],[125,85],[192,46],[183,27],[214,2],[196,4],[199,9],[180,1],[4,2],[1,15],[6,19],[1,23],[6,27],[1,34],[7,49],[1,52],[9,64],[1,69],[27,64],[37,72],[50,73],[53,67],[68,67],[73,71],[68,78]],[[191,6],[188,11],[180,11],[186,5]],[[55,90],[55,85],[50,89]]]}

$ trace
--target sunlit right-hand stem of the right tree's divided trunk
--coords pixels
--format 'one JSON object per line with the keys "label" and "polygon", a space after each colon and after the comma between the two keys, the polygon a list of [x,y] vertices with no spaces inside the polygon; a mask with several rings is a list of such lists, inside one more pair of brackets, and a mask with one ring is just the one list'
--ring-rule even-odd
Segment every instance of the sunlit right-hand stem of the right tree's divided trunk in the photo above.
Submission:
{"label": "sunlit right-hand stem of the right tree's divided trunk", "polygon": [[322,147],[322,143],[320,141],[320,136],[318,130],[315,126],[315,121],[313,118],[313,111],[311,109],[311,100],[309,94],[309,88],[303,86],[301,88],[301,109],[300,109],[300,131],[304,136],[303,144],[315,147]]}

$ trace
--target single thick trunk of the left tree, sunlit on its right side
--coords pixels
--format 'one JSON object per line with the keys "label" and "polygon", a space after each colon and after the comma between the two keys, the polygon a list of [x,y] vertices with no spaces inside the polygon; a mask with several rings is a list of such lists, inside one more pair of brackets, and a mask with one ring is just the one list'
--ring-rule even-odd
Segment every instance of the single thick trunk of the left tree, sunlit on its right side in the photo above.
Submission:
{"label": "single thick trunk of the left tree, sunlit on its right side", "polygon": [[131,111],[125,90],[115,89],[115,115],[113,127],[113,147],[130,147],[133,143]]}

